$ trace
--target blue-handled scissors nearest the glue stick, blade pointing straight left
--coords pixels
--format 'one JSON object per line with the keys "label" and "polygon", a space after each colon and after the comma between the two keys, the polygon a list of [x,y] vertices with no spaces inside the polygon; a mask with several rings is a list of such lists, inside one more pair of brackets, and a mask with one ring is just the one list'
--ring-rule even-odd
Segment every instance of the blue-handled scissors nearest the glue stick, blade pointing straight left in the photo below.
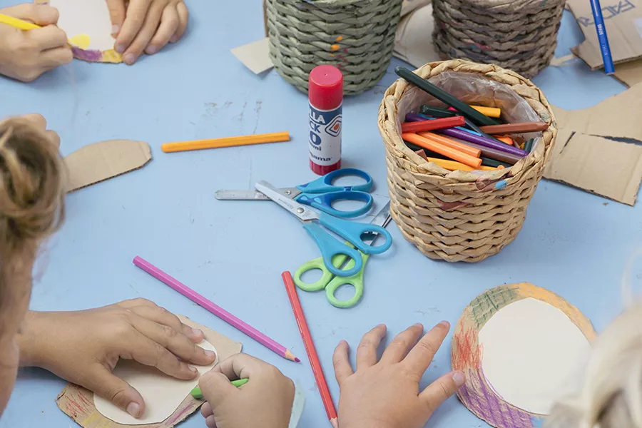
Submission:
{"label": "blue-handled scissors nearest the glue stick, blade pointing straight left", "polygon": [[[365,183],[359,185],[333,185],[337,178],[356,176],[363,178]],[[310,183],[297,185],[294,188],[280,188],[277,191],[299,203],[305,203],[317,210],[340,218],[353,218],[364,215],[372,208],[372,177],[365,171],[357,168],[343,168],[332,171]],[[219,200],[270,200],[266,195],[256,190],[218,190],[216,198]],[[357,200],[363,202],[356,210],[337,210],[332,204],[337,200]]]}

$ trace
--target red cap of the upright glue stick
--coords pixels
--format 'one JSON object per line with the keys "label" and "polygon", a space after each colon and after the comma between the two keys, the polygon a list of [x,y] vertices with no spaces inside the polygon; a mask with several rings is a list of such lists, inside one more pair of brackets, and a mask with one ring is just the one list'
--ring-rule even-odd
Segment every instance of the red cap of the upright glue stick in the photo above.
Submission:
{"label": "red cap of the upright glue stick", "polygon": [[310,71],[307,96],[319,110],[334,110],[343,102],[343,74],[335,66],[317,66]]}

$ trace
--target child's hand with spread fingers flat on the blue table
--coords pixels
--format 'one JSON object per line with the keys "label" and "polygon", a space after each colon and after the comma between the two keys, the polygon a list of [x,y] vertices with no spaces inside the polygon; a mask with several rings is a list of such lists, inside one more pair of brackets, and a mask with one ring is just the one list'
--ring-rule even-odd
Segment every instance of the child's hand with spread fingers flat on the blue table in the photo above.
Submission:
{"label": "child's hand with spread fingers flat on the blue table", "polygon": [[419,381],[449,328],[442,321],[419,340],[424,327],[413,325],[392,340],[377,362],[377,347],[386,335],[386,326],[378,325],[357,348],[357,372],[348,360],[350,346],[340,342],[332,358],[341,389],[340,427],[424,427],[435,409],[464,384],[462,372],[451,372],[419,391]]}

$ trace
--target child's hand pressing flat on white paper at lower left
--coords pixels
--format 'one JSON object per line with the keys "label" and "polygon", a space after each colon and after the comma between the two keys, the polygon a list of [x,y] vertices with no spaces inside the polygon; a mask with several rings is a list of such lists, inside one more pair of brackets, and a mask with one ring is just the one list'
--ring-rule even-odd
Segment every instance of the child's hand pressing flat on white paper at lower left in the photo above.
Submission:
{"label": "child's hand pressing flat on white paper at lower left", "polygon": [[178,379],[211,364],[216,355],[195,345],[203,332],[145,299],[77,312],[29,312],[18,343],[21,365],[43,367],[111,400],[133,417],[145,409],[141,394],[112,374],[119,359],[136,360]]}

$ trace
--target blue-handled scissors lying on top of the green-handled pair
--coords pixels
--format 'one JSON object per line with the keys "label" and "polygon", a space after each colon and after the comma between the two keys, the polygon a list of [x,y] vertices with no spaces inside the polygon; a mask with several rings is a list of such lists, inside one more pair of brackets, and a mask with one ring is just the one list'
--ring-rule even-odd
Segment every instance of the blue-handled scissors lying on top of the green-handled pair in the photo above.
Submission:
{"label": "blue-handled scissors lying on top of the green-handled pair", "polygon": [[[277,188],[266,181],[256,183],[255,188],[263,193],[263,195],[267,196],[267,198],[270,198],[282,208],[285,208],[285,210],[290,214],[296,215],[297,218],[303,222],[303,228],[307,230],[307,233],[310,233],[312,239],[317,243],[319,250],[321,250],[325,267],[337,276],[352,276],[361,270],[363,267],[363,260],[361,258],[361,254],[357,250],[360,250],[365,254],[381,254],[388,250],[390,245],[392,245],[392,235],[379,225],[355,223],[332,217],[332,215],[327,213],[317,214],[314,210],[307,208],[305,205],[282,195],[279,193]],[[336,233],[341,238],[344,238],[352,245],[355,245],[356,249],[350,248],[347,245],[344,245],[341,241],[333,238],[330,233],[323,230],[321,225],[332,230],[332,232]],[[365,243],[362,239],[362,235],[367,233],[378,233],[386,238],[386,241],[382,245],[373,247],[372,245]],[[332,258],[335,257],[335,255],[346,255],[355,262],[355,266],[351,269],[345,270],[335,267],[335,265],[332,264]]]}

